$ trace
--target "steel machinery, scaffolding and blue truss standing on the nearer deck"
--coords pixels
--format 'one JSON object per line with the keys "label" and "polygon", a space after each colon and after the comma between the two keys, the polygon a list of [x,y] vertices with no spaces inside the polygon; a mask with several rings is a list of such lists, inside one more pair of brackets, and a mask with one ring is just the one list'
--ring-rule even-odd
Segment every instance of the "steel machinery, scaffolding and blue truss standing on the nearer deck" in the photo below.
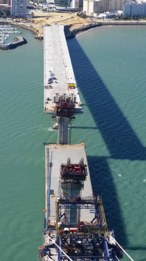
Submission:
{"label": "steel machinery, scaffolding and blue truss standing on the nearer deck", "polygon": [[[84,181],[87,178],[87,164],[83,157],[79,162],[72,163],[70,157],[66,163],[60,165],[58,195],[55,200],[55,222],[49,223],[49,197],[52,168],[52,154],[49,162],[48,175],[48,202],[46,215],[46,228],[44,234],[44,247],[40,249],[40,258],[43,252],[51,260],[52,248],[57,253],[58,261],[115,261],[123,257],[121,248],[110,241],[114,232],[108,231],[102,196],[92,193],[88,197],[82,196]],[[74,196],[70,193],[75,190]],[[66,191],[66,192],[65,192]],[[68,194],[69,193],[69,194]],[[75,196],[77,194],[77,196]],[[86,210],[91,213],[92,220],[86,221]],[[84,220],[81,221],[84,216]],[[73,218],[72,218],[73,216]],[[49,238],[54,241],[50,242]],[[52,240],[52,239],[51,239]],[[57,261],[55,260],[55,261]]]}

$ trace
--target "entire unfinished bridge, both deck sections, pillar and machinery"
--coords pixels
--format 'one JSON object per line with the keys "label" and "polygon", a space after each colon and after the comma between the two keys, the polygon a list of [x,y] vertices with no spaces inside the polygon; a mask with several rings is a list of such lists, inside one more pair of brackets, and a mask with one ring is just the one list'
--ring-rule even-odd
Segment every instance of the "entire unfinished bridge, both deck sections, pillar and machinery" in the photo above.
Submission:
{"label": "entire unfinished bridge, both deck sections, pillar and machinery", "polygon": [[44,26],[44,112],[58,122],[58,142],[44,143],[45,222],[39,258],[117,261],[123,252],[108,230],[102,196],[93,193],[85,144],[71,144],[71,121],[83,109],[63,30]]}

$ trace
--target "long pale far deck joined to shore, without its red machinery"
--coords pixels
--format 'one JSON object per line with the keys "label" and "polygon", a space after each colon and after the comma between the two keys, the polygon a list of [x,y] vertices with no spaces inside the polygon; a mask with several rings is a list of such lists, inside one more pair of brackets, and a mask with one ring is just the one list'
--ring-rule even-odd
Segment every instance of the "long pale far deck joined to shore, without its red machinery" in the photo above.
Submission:
{"label": "long pale far deck joined to shore, without its red machinery", "polygon": [[56,115],[56,102],[72,101],[83,113],[63,25],[44,26],[44,112]]}

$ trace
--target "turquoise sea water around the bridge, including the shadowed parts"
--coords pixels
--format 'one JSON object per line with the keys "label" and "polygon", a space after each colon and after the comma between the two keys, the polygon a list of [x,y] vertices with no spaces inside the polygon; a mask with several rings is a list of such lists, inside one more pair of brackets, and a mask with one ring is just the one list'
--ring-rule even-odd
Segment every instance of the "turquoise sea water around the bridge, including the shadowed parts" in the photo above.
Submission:
{"label": "turquoise sea water around the bridge, including the shadowed parts", "polygon": [[[0,52],[3,261],[38,260],[42,142],[57,140],[51,116],[43,113],[43,42],[21,31],[28,44]],[[145,27],[95,28],[68,40],[84,110],[73,122],[72,143],[86,143],[108,227],[134,261],[146,260],[145,42]]]}

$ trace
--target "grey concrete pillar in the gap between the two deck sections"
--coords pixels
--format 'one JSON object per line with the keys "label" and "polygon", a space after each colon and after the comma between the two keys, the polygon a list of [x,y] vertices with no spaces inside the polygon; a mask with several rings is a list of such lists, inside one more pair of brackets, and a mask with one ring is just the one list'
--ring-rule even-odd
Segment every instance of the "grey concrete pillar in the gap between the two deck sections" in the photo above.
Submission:
{"label": "grey concrete pillar in the gap between the two deck sections", "polygon": [[68,144],[69,117],[58,117],[58,144]]}

